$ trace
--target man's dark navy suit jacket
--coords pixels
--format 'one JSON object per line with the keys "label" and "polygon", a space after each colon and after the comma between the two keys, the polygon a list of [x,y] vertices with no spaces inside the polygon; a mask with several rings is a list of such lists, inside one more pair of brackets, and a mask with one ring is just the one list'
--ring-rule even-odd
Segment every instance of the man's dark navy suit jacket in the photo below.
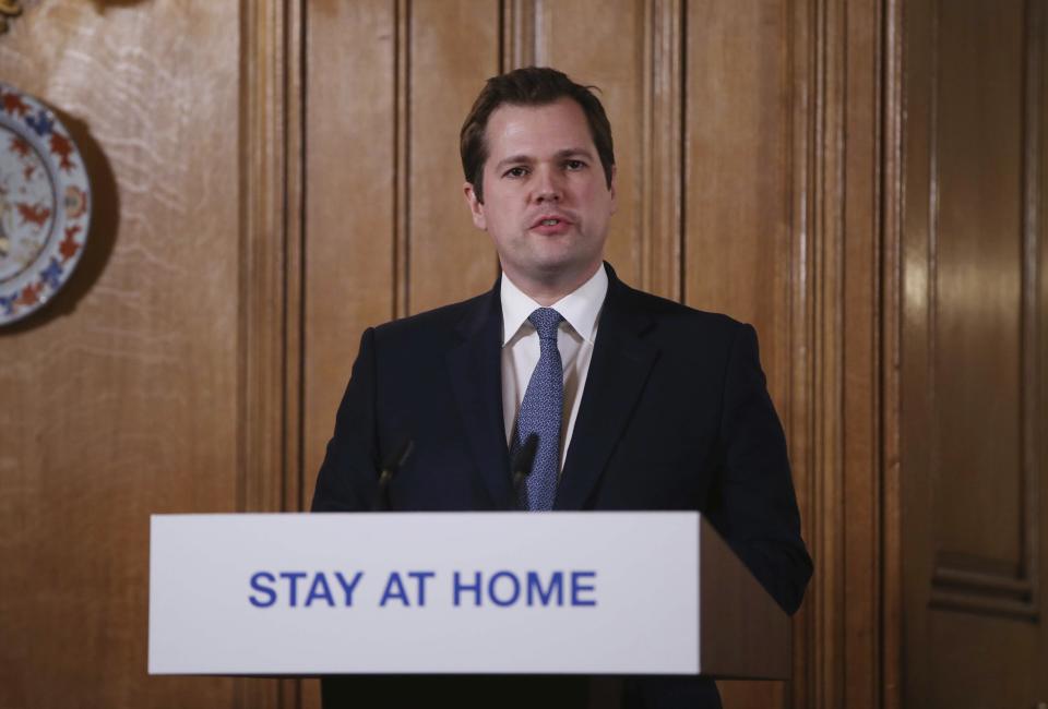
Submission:
{"label": "man's dark navy suit jacket", "polygon": [[[555,509],[700,510],[793,613],[812,566],[753,328],[607,269]],[[392,509],[512,509],[501,345],[498,284],[365,332],[312,509],[368,509],[380,461],[405,438],[415,448],[390,486]],[[590,693],[580,677],[355,677],[323,689],[325,706],[343,693],[384,706],[436,705],[446,693],[453,706],[585,707]],[[705,677],[627,678],[622,692],[630,707],[719,706]]]}

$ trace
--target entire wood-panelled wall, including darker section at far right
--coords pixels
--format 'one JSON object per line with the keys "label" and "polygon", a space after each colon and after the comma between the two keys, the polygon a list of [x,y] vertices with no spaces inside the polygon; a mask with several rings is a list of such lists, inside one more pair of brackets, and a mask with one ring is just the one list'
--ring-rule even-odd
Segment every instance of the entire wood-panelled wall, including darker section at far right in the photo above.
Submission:
{"label": "entire wood-panelled wall, including darker section at far right", "polygon": [[96,218],[0,331],[0,708],[318,706],[314,681],[145,674],[148,515],[308,506],[360,332],[490,287],[457,131],[531,63],[602,91],[620,276],[761,337],[817,572],[794,680],[725,705],[975,706],[944,677],[986,649],[943,650],[1015,621],[941,601],[988,577],[1025,615],[977,637],[1048,647],[1044,0],[23,4],[0,80],[62,111]]}

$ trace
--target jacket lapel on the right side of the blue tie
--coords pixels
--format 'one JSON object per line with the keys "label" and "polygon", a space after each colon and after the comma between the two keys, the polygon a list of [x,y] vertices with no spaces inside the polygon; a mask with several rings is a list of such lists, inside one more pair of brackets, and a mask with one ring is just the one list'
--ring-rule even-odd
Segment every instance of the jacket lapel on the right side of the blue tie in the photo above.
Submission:
{"label": "jacket lapel on the right side of the blue tie", "polygon": [[608,266],[608,295],[555,509],[580,509],[604,472],[658,354],[641,336],[651,315]]}

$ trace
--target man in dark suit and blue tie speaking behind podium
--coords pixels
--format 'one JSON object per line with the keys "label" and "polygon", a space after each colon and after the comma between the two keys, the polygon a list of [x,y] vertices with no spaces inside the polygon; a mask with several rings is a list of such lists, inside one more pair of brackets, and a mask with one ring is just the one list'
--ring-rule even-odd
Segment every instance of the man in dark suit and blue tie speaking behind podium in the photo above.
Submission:
{"label": "man in dark suit and blue tie speaking behind podium", "polygon": [[[698,509],[787,612],[811,561],[753,328],[622,284],[599,100],[551,69],[488,81],[462,131],[466,202],[495,242],[488,293],[369,328],[313,509]],[[514,489],[511,458],[537,442]],[[717,707],[704,677],[327,680],[325,706]],[[603,686],[603,685],[602,685]]]}

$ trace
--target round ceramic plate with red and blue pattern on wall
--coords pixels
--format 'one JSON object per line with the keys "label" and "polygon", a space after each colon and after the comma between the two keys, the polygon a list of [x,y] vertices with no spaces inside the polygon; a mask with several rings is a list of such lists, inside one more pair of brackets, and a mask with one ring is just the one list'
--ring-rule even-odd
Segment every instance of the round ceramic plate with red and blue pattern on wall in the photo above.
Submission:
{"label": "round ceramic plate with red and blue pattern on wall", "polygon": [[0,83],[0,325],[49,301],[91,224],[84,161],[56,116]]}

